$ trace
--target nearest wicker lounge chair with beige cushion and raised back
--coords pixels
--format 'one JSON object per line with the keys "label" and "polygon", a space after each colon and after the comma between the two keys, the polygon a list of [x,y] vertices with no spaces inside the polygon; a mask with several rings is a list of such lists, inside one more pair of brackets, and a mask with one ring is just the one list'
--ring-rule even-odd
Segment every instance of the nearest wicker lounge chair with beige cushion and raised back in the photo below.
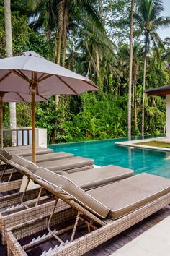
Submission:
{"label": "nearest wicker lounge chair with beige cushion and raised back", "polygon": [[[69,179],[58,174],[55,180],[50,179],[43,168],[35,171],[32,179],[55,196],[55,206],[47,226],[45,221],[39,220],[38,223],[37,219],[32,223],[33,225],[26,221],[22,226],[9,231],[8,252],[15,256],[27,255],[27,251],[30,252],[31,248],[43,243],[45,243],[45,251],[43,252],[42,249],[39,251],[43,256],[83,255],[164,208],[170,202],[169,179],[151,174],[139,174],[88,192],[84,192]],[[55,213],[53,217],[58,198],[70,205],[73,212],[71,213],[70,210],[68,213],[67,209],[61,213]],[[53,228],[50,227],[50,223]],[[63,227],[61,225],[61,229],[56,230],[61,223],[69,224]],[[86,226],[88,232],[74,239],[76,229],[80,226]],[[40,231],[42,231],[41,234]],[[43,231],[46,233],[43,234]],[[70,236],[68,231],[71,231]],[[66,232],[67,241],[63,241],[62,235]],[[55,239],[56,243],[52,239]],[[36,255],[39,254],[36,253]]]}

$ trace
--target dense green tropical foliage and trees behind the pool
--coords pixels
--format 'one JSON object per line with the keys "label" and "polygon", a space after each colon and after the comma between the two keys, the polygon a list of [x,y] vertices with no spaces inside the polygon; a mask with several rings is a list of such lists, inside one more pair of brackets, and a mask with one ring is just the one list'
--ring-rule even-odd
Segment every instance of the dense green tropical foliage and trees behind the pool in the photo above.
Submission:
{"label": "dense green tropical foliage and trees behind the pool", "polygon": [[[13,54],[36,51],[45,58],[88,76],[101,90],[62,95],[37,103],[38,127],[48,128],[48,142],[94,140],[128,135],[130,0],[13,0]],[[133,22],[132,135],[164,132],[164,98],[143,89],[170,82],[170,39],[162,1],[136,0]],[[4,1],[0,0],[0,57],[6,56]],[[145,118],[144,118],[145,117]],[[9,126],[9,106],[4,104]],[[17,125],[30,126],[30,103],[17,103]]]}

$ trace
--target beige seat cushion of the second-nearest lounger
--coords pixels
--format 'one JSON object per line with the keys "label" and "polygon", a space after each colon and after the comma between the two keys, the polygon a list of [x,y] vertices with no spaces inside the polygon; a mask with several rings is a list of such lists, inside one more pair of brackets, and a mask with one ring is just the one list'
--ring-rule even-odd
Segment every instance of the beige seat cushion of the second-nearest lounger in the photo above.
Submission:
{"label": "beige seat cushion of the second-nearest lounger", "polygon": [[119,166],[104,166],[76,173],[62,173],[81,189],[91,189],[133,176],[134,171]]}

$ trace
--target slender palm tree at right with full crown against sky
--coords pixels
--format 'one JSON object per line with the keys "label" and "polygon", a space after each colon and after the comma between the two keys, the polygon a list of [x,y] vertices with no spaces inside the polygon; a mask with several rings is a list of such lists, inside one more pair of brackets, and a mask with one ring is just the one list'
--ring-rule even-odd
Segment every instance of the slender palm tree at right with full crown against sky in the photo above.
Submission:
{"label": "slender palm tree at right with full crown against sky", "polygon": [[134,19],[139,27],[139,35],[144,37],[144,61],[143,61],[143,103],[142,103],[142,136],[144,135],[145,121],[145,89],[146,89],[146,65],[147,56],[150,51],[151,42],[153,46],[163,44],[156,30],[160,27],[168,27],[169,17],[160,16],[164,10],[161,0],[140,0],[138,1],[138,11],[134,13]]}

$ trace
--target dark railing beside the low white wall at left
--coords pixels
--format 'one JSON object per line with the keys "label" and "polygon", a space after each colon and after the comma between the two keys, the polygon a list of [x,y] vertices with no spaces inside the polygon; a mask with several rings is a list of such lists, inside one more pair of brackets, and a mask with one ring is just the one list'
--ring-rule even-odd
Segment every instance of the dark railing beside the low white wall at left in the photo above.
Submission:
{"label": "dark railing beside the low white wall at left", "polygon": [[32,128],[4,129],[4,147],[32,145]]}

